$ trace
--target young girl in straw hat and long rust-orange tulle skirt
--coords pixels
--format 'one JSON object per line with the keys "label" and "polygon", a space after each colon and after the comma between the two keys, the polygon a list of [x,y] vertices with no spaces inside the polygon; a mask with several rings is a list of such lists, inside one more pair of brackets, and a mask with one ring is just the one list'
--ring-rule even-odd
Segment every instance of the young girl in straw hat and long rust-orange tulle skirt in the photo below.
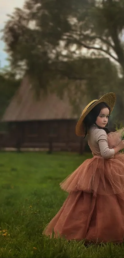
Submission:
{"label": "young girl in straw hat and long rust-orange tulle skirt", "polygon": [[[106,128],[115,98],[114,93],[107,93],[83,110],[76,134],[88,135],[93,158],[60,183],[69,195],[43,234],[51,237],[54,230],[54,237],[68,240],[123,241],[124,155],[119,151],[124,148],[124,141],[122,134],[112,137]],[[108,146],[108,139],[113,148]]]}

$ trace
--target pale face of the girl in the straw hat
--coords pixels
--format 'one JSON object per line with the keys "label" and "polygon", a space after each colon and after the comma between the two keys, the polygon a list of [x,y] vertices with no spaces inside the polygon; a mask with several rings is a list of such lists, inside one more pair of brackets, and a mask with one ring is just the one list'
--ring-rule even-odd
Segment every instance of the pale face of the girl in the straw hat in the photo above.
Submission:
{"label": "pale face of the girl in the straw hat", "polygon": [[103,108],[101,109],[97,119],[96,119],[96,124],[99,127],[105,127],[106,124],[108,123],[108,118],[109,118],[109,109],[108,108]]}

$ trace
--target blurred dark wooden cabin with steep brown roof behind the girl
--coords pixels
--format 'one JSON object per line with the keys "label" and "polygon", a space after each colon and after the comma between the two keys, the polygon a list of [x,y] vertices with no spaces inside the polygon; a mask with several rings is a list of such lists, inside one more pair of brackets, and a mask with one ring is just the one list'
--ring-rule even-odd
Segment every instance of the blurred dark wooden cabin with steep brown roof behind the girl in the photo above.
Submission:
{"label": "blurred dark wooden cabin with steep brown roof behind the girl", "polygon": [[[87,104],[84,99],[81,112]],[[78,118],[66,93],[63,99],[55,93],[36,99],[25,76],[2,117],[1,122],[7,123],[8,129],[2,137],[1,148],[82,153],[86,141],[75,134]]]}

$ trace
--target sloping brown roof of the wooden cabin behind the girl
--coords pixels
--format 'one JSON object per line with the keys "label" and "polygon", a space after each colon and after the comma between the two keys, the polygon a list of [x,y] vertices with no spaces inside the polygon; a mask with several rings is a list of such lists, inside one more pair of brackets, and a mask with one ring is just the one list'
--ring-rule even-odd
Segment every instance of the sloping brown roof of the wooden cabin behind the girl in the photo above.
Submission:
{"label": "sloping brown roof of the wooden cabin behind the girl", "polygon": [[[85,105],[84,101],[83,105]],[[83,107],[82,107],[83,109]],[[82,111],[82,110],[81,110]],[[28,77],[24,77],[22,83],[10,101],[2,121],[31,121],[31,120],[50,120],[50,119],[77,119],[73,108],[65,94],[61,100],[55,93],[37,100],[31,89]]]}

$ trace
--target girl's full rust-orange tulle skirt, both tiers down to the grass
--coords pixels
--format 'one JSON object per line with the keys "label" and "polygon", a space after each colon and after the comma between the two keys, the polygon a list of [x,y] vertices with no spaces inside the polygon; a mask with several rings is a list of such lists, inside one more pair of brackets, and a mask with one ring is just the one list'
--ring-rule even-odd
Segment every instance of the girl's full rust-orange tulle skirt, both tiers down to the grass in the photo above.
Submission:
{"label": "girl's full rust-orange tulle skirt, both tiers down to the grass", "polygon": [[93,242],[123,242],[124,154],[84,161],[60,183],[69,193],[43,234]]}

